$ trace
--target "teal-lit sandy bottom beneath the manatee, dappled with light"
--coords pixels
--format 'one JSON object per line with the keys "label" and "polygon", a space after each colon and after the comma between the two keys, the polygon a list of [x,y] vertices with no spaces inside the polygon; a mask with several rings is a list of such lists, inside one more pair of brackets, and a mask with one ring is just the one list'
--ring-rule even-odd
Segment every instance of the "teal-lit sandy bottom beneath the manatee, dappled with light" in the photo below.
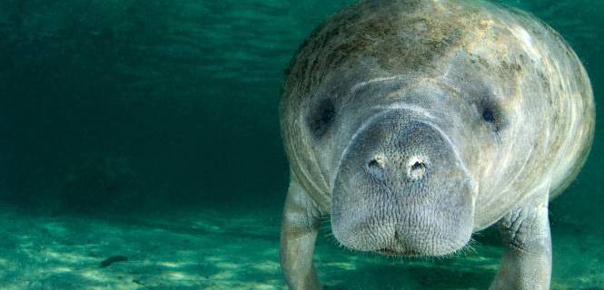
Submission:
{"label": "teal-lit sandy bottom beneath the manatee, dappled with light", "polygon": [[[278,214],[94,219],[0,209],[0,289],[285,288]],[[552,231],[552,288],[604,289],[604,237],[566,224]],[[484,289],[502,253],[479,237],[473,251],[452,259],[389,259],[350,253],[326,236],[315,263],[331,289]],[[128,261],[101,267],[111,256]]]}

